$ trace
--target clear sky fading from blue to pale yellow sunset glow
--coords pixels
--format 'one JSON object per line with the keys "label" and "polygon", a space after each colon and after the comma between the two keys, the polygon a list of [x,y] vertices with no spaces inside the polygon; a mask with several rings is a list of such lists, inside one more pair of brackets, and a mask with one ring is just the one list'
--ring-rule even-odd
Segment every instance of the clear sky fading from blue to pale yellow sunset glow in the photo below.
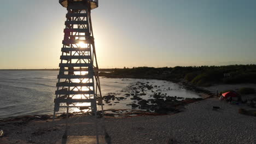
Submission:
{"label": "clear sky fading from blue to pale yellow sunset glow", "polygon": [[[255,0],[99,0],[100,68],[256,64]],[[2,1],[0,69],[58,68],[59,0]]]}

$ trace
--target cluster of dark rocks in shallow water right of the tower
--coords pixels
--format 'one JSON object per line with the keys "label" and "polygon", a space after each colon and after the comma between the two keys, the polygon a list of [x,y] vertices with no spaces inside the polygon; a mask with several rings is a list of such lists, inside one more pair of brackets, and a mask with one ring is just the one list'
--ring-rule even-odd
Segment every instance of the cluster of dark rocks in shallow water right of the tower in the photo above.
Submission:
{"label": "cluster of dark rocks in shallow water right of the tower", "polygon": [[[162,93],[161,89],[153,91],[153,88],[158,87],[160,86],[150,85],[149,82],[136,82],[135,85],[129,86],[129,89],[125,91],[125,97],[116,97],[116,94],[111,93],[104,96],[103,100],[104,103],[112,105],[109,104],[110,101],[131,99],[133,100],[133,103],[126,105],[131,105],[132,109],[138,108],[157,114],[178,113],[182,111],[184,105],[203,100],[202,98],[182,98],[177,96],[169,96],[167,93]],[[189,85],[186,85],[186,87],[191,89]],[[171,90],[170,87],[168,87],[168,89]],[[143,95],[146,95],[145,91],[151,91],[153,93],[150,95],[150,99],[143,99]],[[196,89],[196,91],[199,92],[198,89]],[[202,90],[200,92],[202,92]],[[114,103],[119,103],[118,101]]]}

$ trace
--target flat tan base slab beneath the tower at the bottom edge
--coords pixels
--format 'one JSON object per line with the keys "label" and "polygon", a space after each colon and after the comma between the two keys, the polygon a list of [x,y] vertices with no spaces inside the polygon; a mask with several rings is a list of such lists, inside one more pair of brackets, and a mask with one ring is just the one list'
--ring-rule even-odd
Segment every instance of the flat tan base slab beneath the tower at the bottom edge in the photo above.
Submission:
{"label": "flat tan base slab beneath the tower at the bottom edge", "polygon": [[[98,136],[99,144],[107,144],[103,135]],[[68,136],[68,139],[62,139],[56,144],[96,144],[96,136]]]}

